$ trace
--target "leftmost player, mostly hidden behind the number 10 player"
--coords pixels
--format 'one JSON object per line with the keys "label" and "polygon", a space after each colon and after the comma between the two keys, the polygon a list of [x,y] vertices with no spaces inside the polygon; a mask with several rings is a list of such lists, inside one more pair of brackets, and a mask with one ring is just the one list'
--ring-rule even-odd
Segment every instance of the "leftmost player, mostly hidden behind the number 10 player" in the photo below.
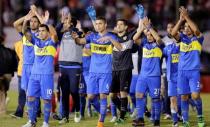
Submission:
{"label": "leftmost player, mostly hidden behind the number 10 player", "polygon": [[[31,8],[36,9],[35,6],[31,6]],[[21,89],[27,92],[28,89],[28,82],[31,75],[31,68],[34,63],[34,46],[31,44],[27,39],[26,36],[22,33],[22,25],[24,21],[24,17],[16,20],[14,22],[14,27],[16,28],[17,32],[22,36],[22,43],[23,43],[23,69],[22,69],[22,77],[21,77]],[[38,27],[40,25],[40,21],[36,15],[34,15],[29,22],[30,30],[26,31],[27,35],[38,36]],[[27,96],[27,95],[26,95]],[[26,100],[27,101],[27,100]],[[36,98],[36,110],[37,116],[41,115],[41,106],[40,106],[40,99]],[[23,112],[17,113],[15,112],[12,114],[12,117],[22,117]]]}

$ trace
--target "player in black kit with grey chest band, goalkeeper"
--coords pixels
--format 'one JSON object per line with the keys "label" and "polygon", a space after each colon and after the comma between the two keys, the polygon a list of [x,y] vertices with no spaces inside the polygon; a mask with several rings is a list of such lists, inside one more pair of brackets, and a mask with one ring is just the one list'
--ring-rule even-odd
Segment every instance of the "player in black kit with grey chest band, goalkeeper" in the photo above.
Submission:
{"label": "player in black kit with grey chest band, goalkeeper", "polygon": [[[128,106],[128,92],[132,78],[132,33],[127,31],[128,24],[125,19],[118,19],[116,33],[122,49],[113,49],[112,84],[110,94],[112,102],[120,110],[120,117],[115,124],[123,124]],[[118,97],[120,93],[120,98]]]}

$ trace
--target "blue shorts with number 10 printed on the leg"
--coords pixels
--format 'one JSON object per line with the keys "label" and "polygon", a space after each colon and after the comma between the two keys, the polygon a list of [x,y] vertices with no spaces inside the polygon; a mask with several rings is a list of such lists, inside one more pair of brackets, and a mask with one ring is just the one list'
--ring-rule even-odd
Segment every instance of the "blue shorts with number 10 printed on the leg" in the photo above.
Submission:
{"label": "blue shorts with number 10 printed on the leg", "polygon": [[27,96],[42,97],[42,99],[51,100],[54,90],[53,74],[31,74]]}

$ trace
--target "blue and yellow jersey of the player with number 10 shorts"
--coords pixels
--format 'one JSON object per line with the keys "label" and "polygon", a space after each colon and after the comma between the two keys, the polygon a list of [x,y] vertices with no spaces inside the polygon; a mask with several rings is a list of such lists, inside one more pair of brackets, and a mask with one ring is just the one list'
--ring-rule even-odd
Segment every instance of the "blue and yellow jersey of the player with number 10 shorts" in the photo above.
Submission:
{"label": "blue and yellow jersey of the player with number 10 shorts", "polygon": [[53,74],[53,62],[56,54],[55,42],[53,42],[50,38],[43,41],[36,37],[32,38],[32,42],[34,43],[35,59],[31,73]]}

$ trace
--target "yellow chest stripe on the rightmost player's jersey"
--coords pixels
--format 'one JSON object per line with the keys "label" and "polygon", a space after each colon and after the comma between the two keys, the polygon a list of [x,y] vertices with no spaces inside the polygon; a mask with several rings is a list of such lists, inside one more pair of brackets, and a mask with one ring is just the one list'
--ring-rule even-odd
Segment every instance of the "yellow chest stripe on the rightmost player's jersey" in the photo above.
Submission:
{"label": "yellow chest stripe on the rightmost player's jersey", "polygon": [[181,44],[180,44],[181,52],[190,52],[190,51],[194,51],[194,50],[201,52],[201,49],[202,49],[202,46],[198,41],[193,41],[189,45],[185,44],[184,42],[181,42]]}

